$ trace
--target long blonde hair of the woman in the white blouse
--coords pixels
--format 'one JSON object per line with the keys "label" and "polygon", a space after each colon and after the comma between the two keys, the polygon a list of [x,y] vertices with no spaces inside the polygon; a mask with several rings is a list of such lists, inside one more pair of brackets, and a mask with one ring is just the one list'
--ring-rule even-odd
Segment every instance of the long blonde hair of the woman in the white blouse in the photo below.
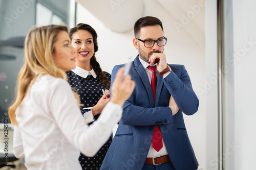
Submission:
{"label": "long blonde hair of the woman in the white blouse", "polygon": [[[67,26],[50,25],[31,30],[25,39],[25,63],[19,71],[17,81],[17,96],[9,107],[8,113],[13,125],[18,125],[15,110],[22,103],[29,87],[34,83],[38,74],[49,74],[55,78],[67,80],[65,71],[56,66],[52,54],[57,35],[61,31],[68,33]],[[79,96],[74,93],[79,105]]]}

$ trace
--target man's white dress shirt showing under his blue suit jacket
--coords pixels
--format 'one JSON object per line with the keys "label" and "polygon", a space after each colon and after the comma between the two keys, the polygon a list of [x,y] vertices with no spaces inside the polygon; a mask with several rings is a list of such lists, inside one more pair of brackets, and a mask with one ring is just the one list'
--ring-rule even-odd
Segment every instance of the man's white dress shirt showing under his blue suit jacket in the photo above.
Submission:
{"label": "man's white dress shirt showing under his blue suit jacket", "polygon": [[[143,61],[141,58],[139,58],[139,60],[140,60],[140,62],[142,64],[142,66],[145,68],[148,80],[150,81],[150,84],[151,84],[151,79],[152,79],[153,73],[152,73],[152,71],[149,68],[147,68],[147,66],[149,66],[150,64],[148,64],[147,62]],[[150,65],[150,66],[156,66],[156,64]],[[158,71],[157,71],[157,69],[156,69],[156,75],[157,75],[157,78],[158,78]],[[163,137],[162,137],[162,141],[163,141]],[[160,157],[160,156],[163,156],[163,155],[168,155],[166,147],[165,147],[165,144],[164,144],[164,141],[163,141],[163,148],[159,152],[157,152],[152,147],[152,143],[150,144],[150,150],[148,151],[147,158]]]}

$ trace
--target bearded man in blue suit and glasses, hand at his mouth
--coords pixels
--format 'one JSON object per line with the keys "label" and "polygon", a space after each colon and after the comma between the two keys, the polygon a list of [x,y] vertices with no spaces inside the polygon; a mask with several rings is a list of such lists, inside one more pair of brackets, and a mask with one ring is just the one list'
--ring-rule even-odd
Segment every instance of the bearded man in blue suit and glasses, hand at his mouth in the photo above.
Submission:
{"label": "bearded man in blue suit and glasses, hand at his mouth", "polygon": [[[192,115],[199,106],[187,71],[184,65],[167,64],[163,53],[167,39],[158,18],[138,19],[134,33],[139,55],[129,74],[136,87],[123,105],[101,169],[197,169],[182,114]],[[113,68],[112,80],[122,66]]]}

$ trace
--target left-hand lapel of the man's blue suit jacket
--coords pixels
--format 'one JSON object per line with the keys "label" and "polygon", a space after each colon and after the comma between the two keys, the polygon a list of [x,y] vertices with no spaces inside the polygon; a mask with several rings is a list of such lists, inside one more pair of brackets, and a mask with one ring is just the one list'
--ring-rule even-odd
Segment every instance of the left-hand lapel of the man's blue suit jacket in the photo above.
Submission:
{"label": "left-hand lapel of the man's blue suit jacket", "polygon": [[151,85],[150,85],[150,81],[147,78],[146,70],[144,69],[144,67],[140,63],[139,55],[134,60],[134,66],[135,66],[135,69],[138,72],[138,75],[140,76],[140,78],[141,78],[141,80],[142,80],[142,82],[143,82],[143,84],[146,88],[148,98],[150,100],[150,105],[151,105],[151,107],[154,107],[153,92],[152,92],[152,88],[151,88]]}

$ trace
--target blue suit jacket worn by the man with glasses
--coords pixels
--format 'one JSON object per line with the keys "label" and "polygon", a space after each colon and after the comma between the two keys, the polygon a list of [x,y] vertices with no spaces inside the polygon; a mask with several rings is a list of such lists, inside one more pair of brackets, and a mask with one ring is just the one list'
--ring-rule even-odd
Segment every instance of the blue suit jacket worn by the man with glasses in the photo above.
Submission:
{"label": "blue suit jacket worn by the man with glasses", "polygon": [[[122,66],[116,65],[113,68],[112,81]],[[163,79],[158,75],[155,107],[146,71],[138,56],[135,58],[129,73],[136,87],[123,105],[123,116],[100,169],[142,169],[150,149],[155,125],[159,125],[161,129],[174,167],[177,170],[198,168],[182,112],[187,115],[194,114],[198,110],[199,101],[184,65],[169,66],[173,71],[168,76]],[[180,108],[174,116],[168,107],[170,95],[173,95]]]}

